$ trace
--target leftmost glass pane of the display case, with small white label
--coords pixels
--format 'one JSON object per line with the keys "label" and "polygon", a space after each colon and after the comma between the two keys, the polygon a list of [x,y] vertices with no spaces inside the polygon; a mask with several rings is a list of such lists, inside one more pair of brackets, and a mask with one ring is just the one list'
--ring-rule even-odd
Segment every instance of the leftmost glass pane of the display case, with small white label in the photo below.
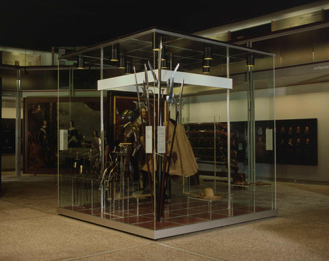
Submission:
{"label": "leftmost glass pane of the display case, with small white label", "polygon": [[100,92],[90,91],[97,74],[99,69],[61,70],[58,83],[59,206],[92,215],[101,208]]}

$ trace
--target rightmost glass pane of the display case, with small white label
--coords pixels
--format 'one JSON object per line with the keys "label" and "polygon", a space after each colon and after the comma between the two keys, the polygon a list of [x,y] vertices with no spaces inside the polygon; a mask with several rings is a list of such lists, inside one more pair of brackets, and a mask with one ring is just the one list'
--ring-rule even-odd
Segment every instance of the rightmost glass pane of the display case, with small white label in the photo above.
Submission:
{"label": "rightmost glass pane of the display case, with small white label", "polygon": [[[257,58],[256,64],[273,64],[273,58]],[[231,146],[236,153],[232,176],[235,210],[258,212],[275,205],[275,125],[273,71],[234,75],[230,94]],[[234,92],[234,90],[239,90]],[[232,154],[231,154],[232,156]]]}

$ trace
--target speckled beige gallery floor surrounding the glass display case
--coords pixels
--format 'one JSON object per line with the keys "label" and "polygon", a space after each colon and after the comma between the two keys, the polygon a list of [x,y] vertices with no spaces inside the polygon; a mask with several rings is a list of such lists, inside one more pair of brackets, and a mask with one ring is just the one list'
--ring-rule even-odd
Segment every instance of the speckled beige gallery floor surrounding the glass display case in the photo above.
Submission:
{"label": "speckled beige gallery floor surrounding the glass display case", "polygon": [[278,182],[276,218],[161,240],[60,216],[57,192],[56,177],[2,173],[0,260],[329,260],[328,184]]}

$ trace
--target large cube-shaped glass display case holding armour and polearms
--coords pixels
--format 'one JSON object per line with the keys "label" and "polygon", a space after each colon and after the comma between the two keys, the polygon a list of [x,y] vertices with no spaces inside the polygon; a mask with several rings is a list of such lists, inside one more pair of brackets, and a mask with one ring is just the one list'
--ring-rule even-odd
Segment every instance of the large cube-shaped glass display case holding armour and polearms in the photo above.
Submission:
{"label": "large cube-shaped glass display case holding armour and polearms", "polygon": [[271,53],[154,28],[60,60],[58,214],[152,239],[276,216]]}

